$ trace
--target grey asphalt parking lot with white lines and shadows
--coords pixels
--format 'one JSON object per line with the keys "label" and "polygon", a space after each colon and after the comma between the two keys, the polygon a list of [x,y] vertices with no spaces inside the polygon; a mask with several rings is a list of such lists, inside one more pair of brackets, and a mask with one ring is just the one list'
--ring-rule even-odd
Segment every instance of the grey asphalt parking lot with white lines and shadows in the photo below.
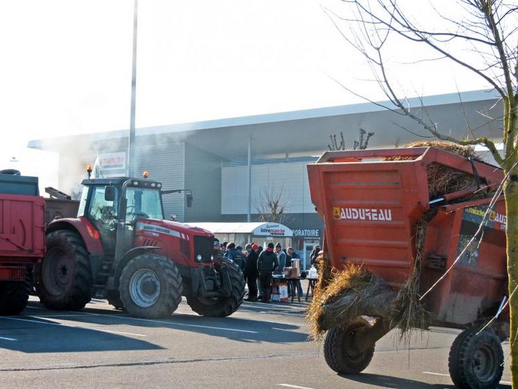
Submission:
{"label": "grey asphalt parking lot with white lines and shadows", "polygon": [[[0,388],[453,388],[458,331],[433,329],[410,350],[389,334],[363,374],[339,376],[307,341],[304,308],[245,303],[216,319],[183,301],[169,319],[141,320],[103,300],[78,313],[31,298],[24,315],[0,317]],[[506,366],[501,388],[508,380]]]}

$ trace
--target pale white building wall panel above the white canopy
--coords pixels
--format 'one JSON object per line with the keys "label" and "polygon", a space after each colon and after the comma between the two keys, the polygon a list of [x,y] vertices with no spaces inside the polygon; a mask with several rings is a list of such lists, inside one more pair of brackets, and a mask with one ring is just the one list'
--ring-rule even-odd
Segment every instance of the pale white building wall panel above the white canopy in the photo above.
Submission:
{"label": "pale white building wall panel above the white canopy", "polygon": [[[277,195],[282,192],[287,213],[314,213],[309,195],[307,163],[275,163],[252,165],[252,213],[257,213],[261,193]],[[221,172],[221,213],[248,213],[248,166],[225,166]]]}

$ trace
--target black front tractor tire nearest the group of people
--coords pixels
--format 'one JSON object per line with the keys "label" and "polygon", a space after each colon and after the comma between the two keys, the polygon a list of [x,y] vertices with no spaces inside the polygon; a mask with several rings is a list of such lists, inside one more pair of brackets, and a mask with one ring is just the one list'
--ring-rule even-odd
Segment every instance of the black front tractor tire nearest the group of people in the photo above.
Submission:
{"label": "black front tractor tire nearest the group of people", "polygon": [[245,297],[245,279],[243,273],[235,265],[226,265],[230,276],[232,290],[230,297],[207,298],[200,296],[187,296],[187,304],[191,309],[202,316],[225,317],[236,312],[243,303]]}

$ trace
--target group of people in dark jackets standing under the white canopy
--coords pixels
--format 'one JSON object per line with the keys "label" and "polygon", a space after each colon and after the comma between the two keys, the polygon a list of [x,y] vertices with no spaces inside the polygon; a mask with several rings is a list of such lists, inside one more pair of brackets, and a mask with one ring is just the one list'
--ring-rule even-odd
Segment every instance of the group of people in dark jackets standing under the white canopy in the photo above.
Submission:
{"label": "group of people in dark jackets standing under the white canopy", "polygon": [[[246,245],[245,251],[243,251],[243,247],[236,246],[234,242],[223,242],[220,246],[219,241],[215,241],[214,249],[218,249],[218,247],[221,254],[232,260],[243,272],[248,285],[247,301],[261,299],[263,302],[269,302],[272,275],[284,274],[284,267],[291,267],[292,259],[300,259],[293,247],[283,249],[280,242],[277,242],[277,245],[270,242],[266,249],[252,242]],[[302,296],[300,280],[297,283],[297,292],[299,296]]]}

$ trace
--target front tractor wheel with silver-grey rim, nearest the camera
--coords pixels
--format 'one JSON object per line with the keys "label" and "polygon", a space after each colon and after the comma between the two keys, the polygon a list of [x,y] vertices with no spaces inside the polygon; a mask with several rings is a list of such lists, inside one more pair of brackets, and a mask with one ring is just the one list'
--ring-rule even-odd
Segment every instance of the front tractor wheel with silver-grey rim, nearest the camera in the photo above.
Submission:
{"label": "front tractor wheel with silver-grey rim, nearest the camera", "polygon": [[130,315],[150,319],[171,316],[182,301],[182,276],[168,258],[142,254],[122,270],[119,294]]}

